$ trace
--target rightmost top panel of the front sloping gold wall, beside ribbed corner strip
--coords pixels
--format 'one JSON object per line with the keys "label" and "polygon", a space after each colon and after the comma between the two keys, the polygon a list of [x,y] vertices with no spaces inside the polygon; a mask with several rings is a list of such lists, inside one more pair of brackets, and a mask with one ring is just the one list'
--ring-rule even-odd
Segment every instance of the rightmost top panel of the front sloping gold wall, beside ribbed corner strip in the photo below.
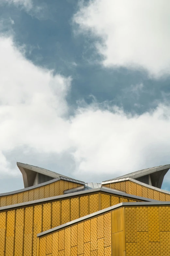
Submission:
{"label": "rightmost top panel of the front sloping gold wall, beside ribbed corner strip", "polygon": [[104,247],[111,246],[111,212],[104,214]]}

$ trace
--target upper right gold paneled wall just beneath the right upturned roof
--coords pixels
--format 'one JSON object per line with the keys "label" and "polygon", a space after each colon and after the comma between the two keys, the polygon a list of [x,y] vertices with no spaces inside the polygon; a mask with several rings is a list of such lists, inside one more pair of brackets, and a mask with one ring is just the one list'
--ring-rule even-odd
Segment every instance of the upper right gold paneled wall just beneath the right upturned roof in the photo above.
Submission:
{"label": "upper right gold paneled wall just beneath the right upturned roof", "polygon": [[145,185],[139,185],[131,181],[121,181],[115,183],[104,184],[102,186],[114,188],[130,195],[135,195],[139,197],[146,197],[149,199],[159,200],[159,201],[170,201],[170,195],[159,192],[155,189],[148,188]]}

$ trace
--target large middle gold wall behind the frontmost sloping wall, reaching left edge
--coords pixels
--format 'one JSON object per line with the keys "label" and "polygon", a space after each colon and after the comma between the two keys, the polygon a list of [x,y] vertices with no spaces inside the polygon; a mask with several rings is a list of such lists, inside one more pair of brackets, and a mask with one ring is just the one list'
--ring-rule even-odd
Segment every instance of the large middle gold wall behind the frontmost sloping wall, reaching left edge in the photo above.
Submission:
{"label": "large middle gold wall behind the frontmost sloping wall, reaching left edge", "polygon": [[136,200],[98,192],[1,211],[0,256],[36,256],[38,233],[122,201]]}

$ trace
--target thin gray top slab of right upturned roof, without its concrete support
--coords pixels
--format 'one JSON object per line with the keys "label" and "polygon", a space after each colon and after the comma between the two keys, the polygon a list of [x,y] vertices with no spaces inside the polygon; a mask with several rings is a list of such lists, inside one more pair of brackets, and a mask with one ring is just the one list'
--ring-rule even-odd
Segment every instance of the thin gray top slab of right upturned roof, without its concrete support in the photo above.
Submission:
{"label": "thin gray top slab of right upturned roof, without its concrete support", "polygon": [[[103,181],[103,182],[110,182],[112,180],[117,180],[117,179],[121,179],[121,178],[128,178],[128,177],[130,177],[132,179],[135,179],[135,178],[138,178],[138,177],[141,177],[141,176],[144,176],[144,175],[156,172],[156,171],[160,171],[160,170],[163,170],[163,169],[167,169],[167,168],[170,168],[170,164],[156,166],[156,167],[152,167],[152,168],[147,168],[147,169],[131,172],[131,173],[125,174],[123,176],[119,176],[119,177],[116,177],[114,179],[110,179],[110,180]],[[102,182],[102,184],[103,184],[103,182]]]}

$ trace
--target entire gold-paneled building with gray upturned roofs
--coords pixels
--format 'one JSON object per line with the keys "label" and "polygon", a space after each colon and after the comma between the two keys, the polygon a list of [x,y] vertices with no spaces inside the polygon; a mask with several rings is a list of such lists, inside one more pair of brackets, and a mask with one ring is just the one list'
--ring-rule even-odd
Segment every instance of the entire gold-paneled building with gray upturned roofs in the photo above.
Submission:
{"label": "entire gold-paneled building with gray upturned roofs", "polygon": [[0,256],[170,255],[170,165],[101,184],[17,166],[24,188],[0,194]]}

